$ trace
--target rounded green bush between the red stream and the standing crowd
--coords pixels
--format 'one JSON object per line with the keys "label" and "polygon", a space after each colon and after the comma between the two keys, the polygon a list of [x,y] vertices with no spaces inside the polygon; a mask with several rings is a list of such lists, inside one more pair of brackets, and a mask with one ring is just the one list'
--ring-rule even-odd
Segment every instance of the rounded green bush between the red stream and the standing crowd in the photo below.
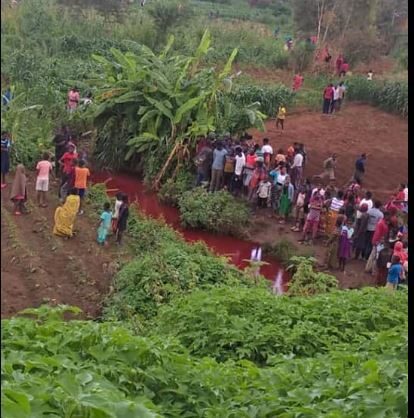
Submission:
{"label": "rounded green bush between the red stream and the standing crowd", "polygon": [[221,234],[240,235],[249,223],[245,202],[225,190],[209,193],[202,187],[185,192],[178,200],[184,226]]}

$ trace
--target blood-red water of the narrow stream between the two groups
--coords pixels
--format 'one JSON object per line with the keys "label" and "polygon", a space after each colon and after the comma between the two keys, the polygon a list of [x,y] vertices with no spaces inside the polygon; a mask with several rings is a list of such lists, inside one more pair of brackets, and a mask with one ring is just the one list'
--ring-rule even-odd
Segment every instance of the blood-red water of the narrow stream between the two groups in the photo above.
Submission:
{"label": "blood-red water of the narrow stream between the two groups", "polygon": [[[130,174],[94,173],[94,182],[105,182],[108,194],[114,195],[118,191],[127,193],[131,201],[138,202],[140,209],[153,218],[162,217],[175,230],[179,231],[188,242],[203,241],[216,254],[228,257],[229,261],[237,267],[244,268],[248,265],[245,260],[250,259],[253,244],[227,235],[217,235],[202,230],[185,229],[180,225],[178,209],[167,206],[157,198],[154,192],[147,190],[141,180]],[[276,280],[281,266],[274,259],[263,257],[269,264],[263,265],[260,273],[269,280]],[[280,275],[279,275],[280,276]],[[287,275],[283,271],[283,283],[286,283]]]}

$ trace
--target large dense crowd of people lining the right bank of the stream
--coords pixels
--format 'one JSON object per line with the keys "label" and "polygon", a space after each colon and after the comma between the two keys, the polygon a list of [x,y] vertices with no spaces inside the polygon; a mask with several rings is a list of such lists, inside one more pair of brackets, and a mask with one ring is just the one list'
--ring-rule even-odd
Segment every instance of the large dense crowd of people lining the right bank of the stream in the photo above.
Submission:
{"label": "large dense crowd of people lining the right bank of the stream", "polygon": [[268,138],[258,144],[249,137],[209,135],[198,144],[196,185],[212,193],[226,189],[255,211],[268,208],[280,224],[292,223],[301,244],[320,240],[331,269],[344,271],[351,258],[364,260],[366,271],[385,284],[388,263],[398,257],[401,282],[408,274],[408,186],[401,184],[388,202],[375,200],[363,189],[367,158],[356,158],[351,179],[338,188],[336,154],[323,162],[321,174],[305,178],[304,144],[275,152]]}

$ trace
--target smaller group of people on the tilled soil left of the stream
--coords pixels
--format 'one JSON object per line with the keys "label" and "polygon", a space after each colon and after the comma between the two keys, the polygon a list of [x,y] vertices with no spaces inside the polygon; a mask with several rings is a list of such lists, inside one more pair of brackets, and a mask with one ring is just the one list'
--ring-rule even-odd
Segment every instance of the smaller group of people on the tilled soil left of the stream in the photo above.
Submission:
{"label": "smaller group of people on the tilled soil left of the stream", "polygon": [[[72,238],[75,232],[75,222],[84,213],[84,200],[90,180],[90,170],[87,167],[86,154],[77,152],[77,141],[69,130],[60,129],[55,137],[55,155],[46,152],[36,165],[36,202],[40,208],[48,206],[50,181],[58,184],[60,206],[55,210],[53,233],[64,238]],[[8,132],[1,134],[1,188],[7,187],[7,175],[10,169],[11,136]],[[13,203],[15,216],[28,214],[28,179],[23,164],[16,166],[11,185],[10,199]],[[108,244],[108,237],[113,234],[118,245],[127,229],[129,217],[128,196],[119,192],[116,196],[113,211],[109,203],[105,203],[100,214],[97,227],[97,242]]]}

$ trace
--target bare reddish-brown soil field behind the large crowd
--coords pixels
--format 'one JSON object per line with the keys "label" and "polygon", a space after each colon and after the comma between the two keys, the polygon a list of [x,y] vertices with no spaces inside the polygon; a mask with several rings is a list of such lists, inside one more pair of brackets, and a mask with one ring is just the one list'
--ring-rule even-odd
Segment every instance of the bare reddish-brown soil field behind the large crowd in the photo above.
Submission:
{"label": "bare reddish-brown soil field behind the large crowd", "polygon": [[365,152],[369,156],[363,187],[374,197],[388,199],[399,183],[407,182],[408,124],[371,106],[345,103],[335,115],[301,111],[289,116],[288,109],[283,132],[274,121],[266,123],[266,130],[252,131],[253,137],[258,141],[268,137],[275,151],[279,147],[286,150],[293,142],[305,144],[306,177],[320,174],[323,161],[335,152],[337,184],[342,187],[352,176],[355,160]]}

